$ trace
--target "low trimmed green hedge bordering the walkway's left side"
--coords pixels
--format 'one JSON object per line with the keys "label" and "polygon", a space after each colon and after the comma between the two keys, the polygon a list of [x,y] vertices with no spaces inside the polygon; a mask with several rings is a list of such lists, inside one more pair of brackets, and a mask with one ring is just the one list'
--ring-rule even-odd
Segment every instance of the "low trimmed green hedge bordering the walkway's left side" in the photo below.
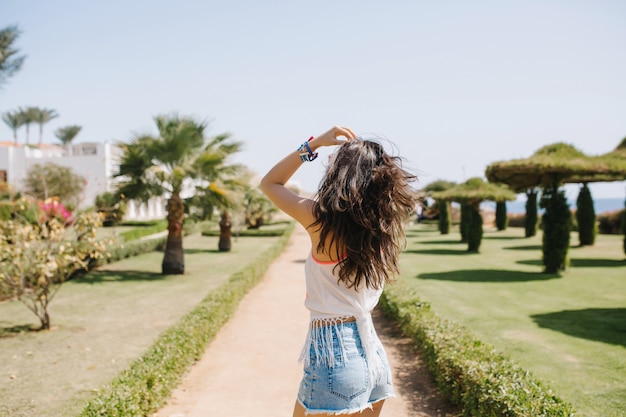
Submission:
{"label": "low trimmed green hedge bordering the walkway's left side", "polygon": [[225,284],[166,330],[141,358],[100,389],[80,416],[147,416],[161,408],[184,373],[202,357],[209,341],[228,321],[243,296],[283,251],[293,229],[291,224],[275,245],[231,275]]}

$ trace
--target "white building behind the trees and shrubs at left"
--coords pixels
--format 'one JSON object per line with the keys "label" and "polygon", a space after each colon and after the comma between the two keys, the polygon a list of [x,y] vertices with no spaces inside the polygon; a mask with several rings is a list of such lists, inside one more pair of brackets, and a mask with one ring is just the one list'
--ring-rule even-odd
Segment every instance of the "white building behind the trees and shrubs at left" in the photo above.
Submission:
{"label": "white building behind the trees and shrubs at left", "polygon": [[[15,190],[21,190],[28,170],[34,165],[54,163],[65,166],[85,179],[79,207],[90,207],[97,195],[115,190],[113,174],[118,171],[121,154],[119,146],[111,143],[24,146],[0,142],[0,180],[6,181]],[[131,201],[124,217],[126,220],[165,218],[164,200],[154,198],[148,204]]]}

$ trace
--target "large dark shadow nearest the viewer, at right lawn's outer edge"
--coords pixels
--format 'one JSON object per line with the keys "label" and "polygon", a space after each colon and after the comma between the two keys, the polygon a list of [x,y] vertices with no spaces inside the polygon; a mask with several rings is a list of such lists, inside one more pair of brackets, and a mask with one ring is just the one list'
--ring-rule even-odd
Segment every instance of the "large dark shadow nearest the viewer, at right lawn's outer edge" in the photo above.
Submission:
{"label": "large dark shadow nearest the viewer, at right lawn's outer edge", "polygon": [[586,308],[530,316],[540,327],[626,347],[626,308]]}

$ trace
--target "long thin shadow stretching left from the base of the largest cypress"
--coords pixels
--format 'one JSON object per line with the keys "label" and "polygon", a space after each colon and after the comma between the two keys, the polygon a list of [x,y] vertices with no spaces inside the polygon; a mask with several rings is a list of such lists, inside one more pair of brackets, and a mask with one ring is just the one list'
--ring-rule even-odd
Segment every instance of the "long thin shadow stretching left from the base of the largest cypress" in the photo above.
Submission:
{"label": "long thin shadow stretching left from the base of the largest cypress", "polygon": [[461,269],[458,271],[419,274],[417,278],[458,282],[526,282],[560,278],[558,274],[510,271],[506,269]]}

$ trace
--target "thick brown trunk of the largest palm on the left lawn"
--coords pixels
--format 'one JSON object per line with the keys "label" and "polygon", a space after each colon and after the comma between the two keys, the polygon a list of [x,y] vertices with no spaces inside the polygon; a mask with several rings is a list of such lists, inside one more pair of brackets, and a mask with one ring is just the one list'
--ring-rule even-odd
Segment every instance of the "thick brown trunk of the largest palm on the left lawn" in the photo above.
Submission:
{"label": "thick brown trunk of the largest palm on the left lawn", "polygon": [[164,275],[184,274],[185,255],[183,252],[183,222],[185,207],[178,193],[172,194],[167,203],[167,243],[161,271]]}

